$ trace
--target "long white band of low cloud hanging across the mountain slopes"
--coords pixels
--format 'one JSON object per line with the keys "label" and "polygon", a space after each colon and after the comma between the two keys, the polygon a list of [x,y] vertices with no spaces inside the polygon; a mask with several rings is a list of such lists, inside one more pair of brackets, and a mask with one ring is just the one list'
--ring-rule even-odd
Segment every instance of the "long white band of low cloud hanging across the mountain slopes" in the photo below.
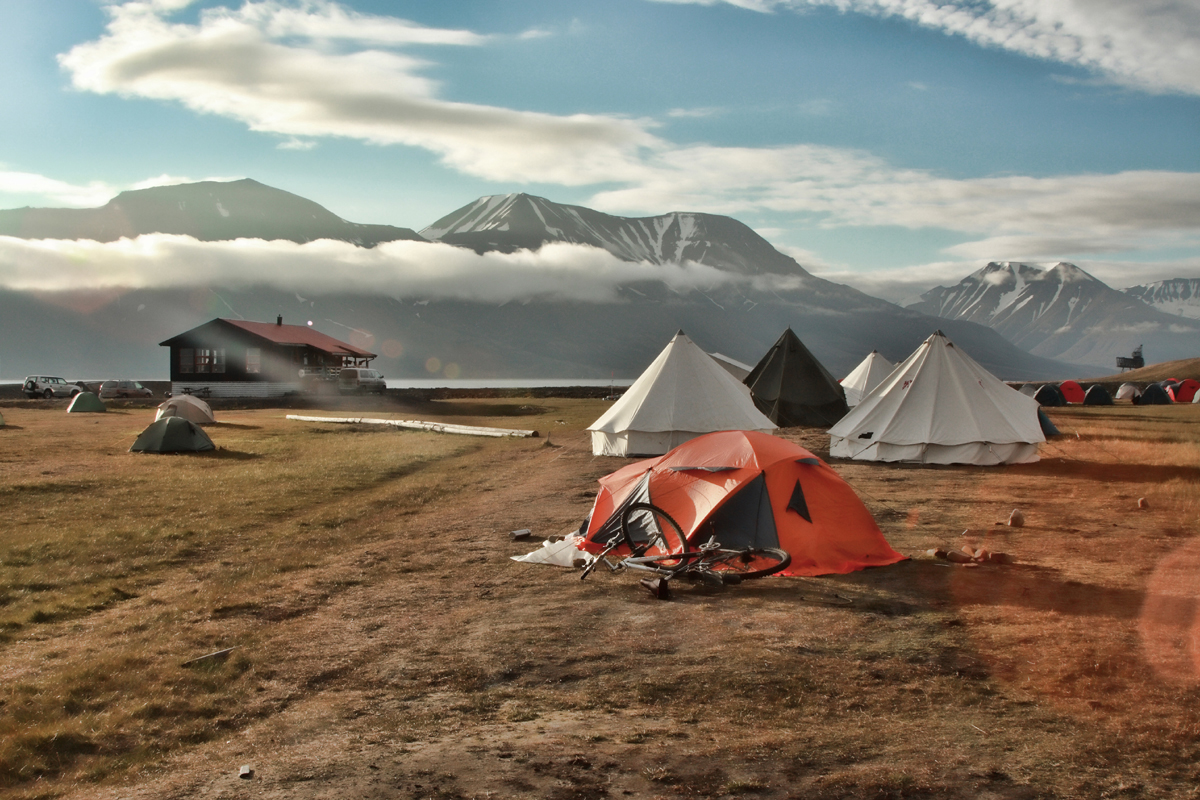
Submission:
{"label": "long white band of low cloud hanging across the mountain slopes", "polygon": [[622,261],[607,251],[566,243],[479,255],[415,241],[368,249],[330,240],[202,242],[167,234],[107,243],[0,236],[0,287],[18,291],[269,285],[496,303],[536,297],[611,302],[617,287],[637,281],[688,291],[734,279],[710,266]]}

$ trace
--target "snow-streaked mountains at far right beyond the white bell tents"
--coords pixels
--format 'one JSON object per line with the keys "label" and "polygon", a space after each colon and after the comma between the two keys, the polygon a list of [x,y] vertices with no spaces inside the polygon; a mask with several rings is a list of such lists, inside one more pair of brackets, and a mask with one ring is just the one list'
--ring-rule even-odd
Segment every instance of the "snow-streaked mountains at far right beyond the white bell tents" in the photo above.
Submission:
{"label": "snow-streaked mountains at far right beyond the white bell tents", "polygon": [[953,287],[936,287],[910,309],[988,325],[1048,359],[1112,367],[1145,345],[1147,361],[1200,351],[1200,324],[1164,314],[1074,264],[1049,270],[992,261]]}

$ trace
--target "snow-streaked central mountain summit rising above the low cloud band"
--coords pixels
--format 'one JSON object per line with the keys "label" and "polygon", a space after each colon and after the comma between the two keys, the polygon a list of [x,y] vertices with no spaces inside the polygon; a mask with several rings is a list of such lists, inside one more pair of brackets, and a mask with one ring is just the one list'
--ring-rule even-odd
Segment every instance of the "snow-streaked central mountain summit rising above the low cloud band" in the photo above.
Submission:
{"label": "snow-streaked central mountain summit rising above the low cloud band", "polygon": [[448,213],[420,233],[480,253],[574,242],[601,247],[626,261],[697,261],[742,275],[812,277],[748,225],[713,213],[617,217],[532,194],[493,194]]}

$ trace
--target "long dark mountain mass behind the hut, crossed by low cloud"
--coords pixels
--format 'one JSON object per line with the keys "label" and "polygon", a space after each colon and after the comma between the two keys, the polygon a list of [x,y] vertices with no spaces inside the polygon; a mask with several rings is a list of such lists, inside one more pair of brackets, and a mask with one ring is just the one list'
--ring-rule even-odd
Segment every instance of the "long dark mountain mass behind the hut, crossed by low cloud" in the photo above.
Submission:
{"label": "long dark mountain mass behind the hut, crossed by low cloud", "polygon": [[[257,217],[248,200],[256,196],[264,198],[257,207],[269,209]],[[365,235],[383,227],[354,225],[254,181],[127,192],[109,206],[131,221],[127,231],[202,230],[215,239],[234,234],[229,228],[204,228],[198,221],[211,225],[235,221],[240,237],[287,233],[293,241],[310,241],[340,234],[335,237],[356,243],[383,241]],[[22,212],[29,217],[28,210],[19,210],[0,212],[0,221]],[[71,215],[38,218],[70,219]],[[79,225],[59,224],[58,235],[84,235]],[[392,237],[406,231],[386,230]],[[90,231],[102,233],[95,227]],[[46,235],[48,227],[41,233]],[[680,327],[708,350],[755,363],[788,326],[839,375],[871,350],[900,361],[937,329],[1002,378],[1081,374],[1070,365],[1030,355],[986,326],[932,318],[818,278],[728,217],[617,217],[510,194],[480,198],[424,233],[481,253],[576,242],[650,265],[692,260],[734,277],[694,290],[676,290],[650,278],[634,281],[617,287],[618,299],[612,302],[528,299],[503,305],[437,294],[403,299],[313,295],[301,287],[296,287],[299,294],[217,285],[56,294],[0,290],[0,377],[49,371],[71,379],[152,378],[167,371],[157,342],[214,317],[274,319],[276,314],[312,320],[317,330],[379,353],[376,365],[391,378],[451,373],[462,378],[632,378]]]}

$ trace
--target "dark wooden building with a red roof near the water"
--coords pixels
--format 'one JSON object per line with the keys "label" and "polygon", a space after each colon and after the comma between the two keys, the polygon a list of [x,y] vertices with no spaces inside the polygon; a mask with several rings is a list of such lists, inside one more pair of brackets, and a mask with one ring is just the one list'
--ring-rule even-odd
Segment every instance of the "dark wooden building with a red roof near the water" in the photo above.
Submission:
{"label": "dark wooden building with a red roof near the water", "polygon": [[316,391],[342,367],[366,367],[374,353],[307,325],[214,319],[174,336],[170,391],[211,397],[281,397]]}

